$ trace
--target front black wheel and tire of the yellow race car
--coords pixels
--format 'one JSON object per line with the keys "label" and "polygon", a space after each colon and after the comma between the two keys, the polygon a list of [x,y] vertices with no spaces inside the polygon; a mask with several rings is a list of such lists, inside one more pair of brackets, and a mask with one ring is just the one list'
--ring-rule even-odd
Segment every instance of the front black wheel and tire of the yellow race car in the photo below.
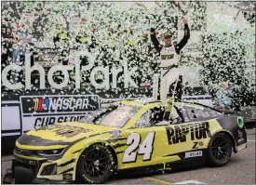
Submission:
{"label": "front black wheel and tire of the yellow race car", "polygon": [[107,146],[93,144],[79,157],[76,178],[82,183],[101,184],[111,177],[115,158]]}

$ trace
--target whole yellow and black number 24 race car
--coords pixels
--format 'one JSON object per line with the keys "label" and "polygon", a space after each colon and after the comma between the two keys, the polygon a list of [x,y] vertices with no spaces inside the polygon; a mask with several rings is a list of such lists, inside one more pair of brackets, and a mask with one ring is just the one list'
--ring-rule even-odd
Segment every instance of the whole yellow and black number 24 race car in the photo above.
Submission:
{"label": "whole yellow and black number 24 race car", "polygon": [[164,120],[160,101],[124,100],[79,122],[36,128],[16,141],[4,182],[103,183],[114,173],[225,165],[247,148],[243,118],[175,102],[182,123]]}

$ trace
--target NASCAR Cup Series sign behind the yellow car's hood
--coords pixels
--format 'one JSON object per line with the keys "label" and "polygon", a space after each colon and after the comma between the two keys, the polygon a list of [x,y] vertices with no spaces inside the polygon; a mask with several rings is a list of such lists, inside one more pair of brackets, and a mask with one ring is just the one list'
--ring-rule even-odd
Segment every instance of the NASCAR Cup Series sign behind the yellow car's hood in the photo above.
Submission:
{"label": "NASCAR Cup Series sign behind the yellow car's hood", "polygon": [[21,96],[22,132],[38,126],[73,122],[100,108],[97,95]]}

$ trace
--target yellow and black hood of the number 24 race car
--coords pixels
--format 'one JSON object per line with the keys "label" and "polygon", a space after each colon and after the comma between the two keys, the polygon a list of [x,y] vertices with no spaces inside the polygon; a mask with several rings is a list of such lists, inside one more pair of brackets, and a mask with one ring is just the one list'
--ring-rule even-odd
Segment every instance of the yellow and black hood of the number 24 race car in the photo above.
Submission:
{"label": "yellow and black hood of the number 24 race car", "polygon": [[99,136],[116,129],[118,128],[79,122],[59,123],[31,130],[23,134],[17,142],[26,146],[68,145],[76,140]]}

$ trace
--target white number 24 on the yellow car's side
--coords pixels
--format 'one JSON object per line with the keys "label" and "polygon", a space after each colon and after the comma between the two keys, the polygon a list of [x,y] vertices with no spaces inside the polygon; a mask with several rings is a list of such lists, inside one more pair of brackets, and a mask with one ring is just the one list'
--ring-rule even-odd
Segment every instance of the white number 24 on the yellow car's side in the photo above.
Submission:
{"label": "white number 24 on the yellow car's side", "polygon": [[143,161],[149,161],[153,152],[153,145],[155,140],[155,132],[149,132],[146,138],[141,143],[141,136],[138,133],[132,133],[128,136],[128,148],[124,153],[123,163],[132,163],[137,159],[137,152],[135,152],[141,143],[139,155],[143,154]]}

